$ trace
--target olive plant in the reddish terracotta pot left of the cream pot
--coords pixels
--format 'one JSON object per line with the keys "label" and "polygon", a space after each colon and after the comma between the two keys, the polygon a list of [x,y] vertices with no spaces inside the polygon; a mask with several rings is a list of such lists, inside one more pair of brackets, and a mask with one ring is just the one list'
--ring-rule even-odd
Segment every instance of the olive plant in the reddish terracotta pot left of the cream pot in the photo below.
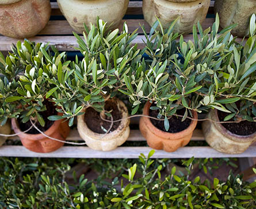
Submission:
{"label": "olive plant in the reddish terracotta pot left of the cream pot", "polygon": [[18,96],[9,96],[5,101],[16,102],[17,107],[21,109],[17,119],[12,119],[14,132],[24,132],[32,124],[40,130],[33,127],[29,132],[18,135],[22,144],[34,152],[52,152],[62,147],[62,142],[47,136],[65,140],[70,130],[67,122],[63,123],[63,120],[53,123],[47,119],[56,115],[54,103],[46,98],[53,88],[48,79],[57,77],[57,66],[62,66],[63,71],[66,70],[66,65],[61,64],[64,53],[56,52],[50,57],[47,50],[47,45],[29,41],[21,44],[19,41],[17,46],[13,46],[13,53],[9,55],[10,60],[20,62],[18,68],[22,69],[22,74],[19,75],[19,85],[16,89]]}

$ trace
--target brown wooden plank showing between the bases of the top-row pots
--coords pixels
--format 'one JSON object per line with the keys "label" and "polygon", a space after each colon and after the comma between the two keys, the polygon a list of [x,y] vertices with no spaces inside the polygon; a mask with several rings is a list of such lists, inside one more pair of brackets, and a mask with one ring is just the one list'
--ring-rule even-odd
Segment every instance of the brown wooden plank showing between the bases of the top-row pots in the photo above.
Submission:
{"label": "brown wooden plank showing between the bases of the top-row pots", "polygon": [[[211,27],[214,21],[215,18],[206,18],[202,23],[202,29],[205,30],[208,27]],[[124,22],[127,23],[129,33],[132,33],[134,30],[138,29],[137,33],[142,34],[143,31],[140,25],[144,25],[146,32],[150,33],[151,27],[144,19],[123,19],[119,26],[120,30],[123,29]],[[74,30],[66,20],[49,21],[47,26],[40,31],[39,35],[72,35],[73,31]]]}

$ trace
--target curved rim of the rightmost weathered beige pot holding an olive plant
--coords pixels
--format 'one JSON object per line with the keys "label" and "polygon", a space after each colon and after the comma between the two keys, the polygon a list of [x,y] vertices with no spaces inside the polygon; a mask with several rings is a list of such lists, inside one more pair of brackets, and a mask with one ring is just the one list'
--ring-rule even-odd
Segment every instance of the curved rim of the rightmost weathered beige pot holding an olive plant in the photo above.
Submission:
{"label": "curved rim of the rightmost weathered beige pot holding an olive plant", "polygon": [[[210,117],[212,120],[215,121],[220,121],[219,120],[219,116],[217,114],[217,109],[211,109],[210,111]],[[215,125],[215,127],[217,128],[217,130],[219,132],[221,132],[224,136],[226,136],[228,139],[231,139],[233,141],[237,141],[237,142],[249,142],[249,141],[254,141],[255,137],[256,137],[256,132],[251,134],[251,135],[236,135],[235,133],[232,133],[231,131],[228,131],[228,129],[226,129],[222,124],[220,123],[214,123],[211,121],[211,123],[213,123]]]}

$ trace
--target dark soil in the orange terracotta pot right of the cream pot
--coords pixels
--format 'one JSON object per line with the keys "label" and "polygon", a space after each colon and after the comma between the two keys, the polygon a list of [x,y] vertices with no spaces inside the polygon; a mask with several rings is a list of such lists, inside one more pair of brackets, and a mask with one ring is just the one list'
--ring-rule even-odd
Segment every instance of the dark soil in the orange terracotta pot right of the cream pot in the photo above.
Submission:
{"label": "dark soil in the orange terracotta pot right of the cream pot", "polygon": [[[150,109],[150,116],[151,117],[156,117],[158,116],[159,111],[158,110],[152,110]],[[178,109],[176,112],[176,115],[184,115],[185,114],[185,109]],[[164,117],[162,117],[162,119],[164,119]],[[190,119],[186,119],[184,121],[181,121],[182,117],[177,117],[177,116],[173,116],[169,119],[169,124],[170,124],[170,128],[167,132],[169,133],[177,133],[177,132],[181,132],[183,130],[185,130],[186,128],[189,127],[191,120]],[[150,119],[151,123],[158,129],[165,131],[165,122],[163,120],[155,120],[155,119]]]}

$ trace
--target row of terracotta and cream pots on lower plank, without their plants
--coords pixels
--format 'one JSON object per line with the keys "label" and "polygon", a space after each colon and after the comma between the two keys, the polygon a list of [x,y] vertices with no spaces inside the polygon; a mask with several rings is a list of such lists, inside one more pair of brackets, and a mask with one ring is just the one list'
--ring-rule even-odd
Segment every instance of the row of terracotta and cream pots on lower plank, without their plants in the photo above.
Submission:
{"label": "row of terracotta and cream pots on lower plank, without their plants", "polygon": [[[88,147],[95,150],[111,151],[125,143],[129,137],[130,128],[127,107],[124,102],[118,98],[112,98],[109,102],[116,105],[121,114],[119,127],[112,132],[107,134],[96,133],[88,127],[84,115],[78,116],[77,129],[79,135],[85,140]],[[146,117],[141,117],[139,123],[140,132],[146,138],[147,144],[151,148],[163,149],[166,152],[174,152],[178,148],[187,145],[197,125],[197,112],[193,111],[193,120],[191,120],[188,128],[181,132],[168,133],[156,128],[155,125],[151,123],[150,118],[147,117],[150,116],[151,104],[152,103],[148,101],[144,105],[143,115]],[[86,109],[83,109],[82,112],[86,112]],[[217,109],[210,111],[207,117],[209,120],[205,120],[202,123],[202,131],[204,132],[208,144],[217,151],[231,154],[242,153],[256,141],[256,133],[249,136],[239,136],[224,128],[223,125],[218,123],[220,120]],[[28,148],[30,151],[42,153],[52,152],[62,147],[70,133],[68,122],[64,121],[64,119],[55,121],[47,131],[38,134],[22,132],[17,119],[12,119],[12,127],[14,132],[18,133],[24,147]],[[10,123],[6,123],[6,125],[0,128],[0,132],[3,134],[9,134],[11,132]],[[2,145],[5,140],[6,137],[1,137],[0,145]]]}

